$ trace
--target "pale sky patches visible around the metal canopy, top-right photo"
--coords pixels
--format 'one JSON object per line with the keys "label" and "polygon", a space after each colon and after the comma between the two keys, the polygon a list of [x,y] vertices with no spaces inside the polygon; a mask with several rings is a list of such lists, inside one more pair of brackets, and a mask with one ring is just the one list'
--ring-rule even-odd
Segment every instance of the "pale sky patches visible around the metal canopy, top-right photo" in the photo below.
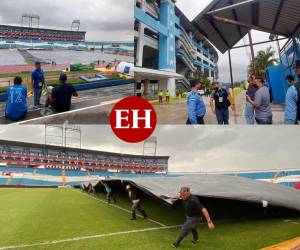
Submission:
{"label": "pale sky patches visible around the metal canopy, top-right photo", "polygon": [[[177,6],[182,12],[190,19],[193,20],[205,7],[210,4],[212,0],[178,0]],[[252,39],[253,42],[261,42],[269,40],[269,34],[252,31]],[[283,42],[284,43],[284,42]],[[237,45],[249,44],[248,36],[246,36],[242,41],[240,41]],[[277,45],[276,43],[269,43],[264,45],[258,45],[254,47],[255,53],[259,50],[263,50],[272,46],[277,53]],[[247,79],[247,65],[250,62],[250,49],[249,48],[241,48],[235,49],[232,51],[232,65],[233,65],[233,74],[234,81],[241,81]],[[229,63],[228,63],[228,54],[224,55],[219,52],[219,70],[220,70],[220,81],[229,82]]]}

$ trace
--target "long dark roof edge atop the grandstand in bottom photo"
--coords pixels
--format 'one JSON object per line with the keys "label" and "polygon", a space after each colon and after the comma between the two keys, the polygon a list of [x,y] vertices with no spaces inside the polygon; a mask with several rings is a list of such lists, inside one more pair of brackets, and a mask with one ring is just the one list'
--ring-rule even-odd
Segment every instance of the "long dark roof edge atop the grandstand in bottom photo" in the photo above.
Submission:
{"label": "long dark roof edge atop the grandstand in bottom photo", "polygon": [[8,146],[16,146],[16,147],[31,147],[31,148],[47,148],[51,150],[58,150],[58,151],[72,151],[72,152],[80,152],[86,154],[106,154],[111,156],[128,156],[128,157],[143,157],[148,159],[169,159],[169,156],[147,156],[147,155],[134,155],[134,154],[121,154],[121,153],[113,153],[113,152],[105,152],[105,151],[98,151],[98,150],[90,150],[90,149],[79,149],[79,148],[72,148],[72,147],[62,147],[62,146],[53,146],[53,145],[45,145],[45,144],[37,144],[37,143],[28,143],[28,142],[20,142],[20,141],[7,141],[7,140],[0,140],[0,145],[8,145]]}

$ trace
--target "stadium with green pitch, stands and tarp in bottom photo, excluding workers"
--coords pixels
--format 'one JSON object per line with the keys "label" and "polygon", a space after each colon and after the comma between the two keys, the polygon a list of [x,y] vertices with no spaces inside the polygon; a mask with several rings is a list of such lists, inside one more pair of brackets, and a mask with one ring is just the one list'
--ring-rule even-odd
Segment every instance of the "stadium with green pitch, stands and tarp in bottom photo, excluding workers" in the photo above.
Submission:
{"label": "stadium with green pitch, stands and tarp in bottom photo, excluding workers", "polygon": [[[170,173],[169,156],[5,140],[0,162],[0,222],[6,225],[0,249],[169,249],[184,211],[166,197],[184,185],[208,208],[216,230],[203,222],[199,243],[187,238],[180,249],[269,249],[300,229],[300,193],[292,187],[299,170]],[[107,204],[103,183],[116,204]],[[148,219],[129,220],[128,184],[138,190]]]}

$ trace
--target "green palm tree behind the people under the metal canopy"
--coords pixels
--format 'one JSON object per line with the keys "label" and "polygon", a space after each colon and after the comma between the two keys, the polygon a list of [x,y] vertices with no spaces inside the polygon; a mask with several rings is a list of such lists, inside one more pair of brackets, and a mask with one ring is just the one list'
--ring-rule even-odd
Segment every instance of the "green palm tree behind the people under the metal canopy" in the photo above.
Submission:
{"label": "green palm tree behind the people under the metal canopy", "polygon": [[[266,69],[278,63],[278,60],[275,59],[274,56],[275,51],[272,47],[269,47],[266,50],[260,50],[257,56],[255,57],[256,74],[265,78]],[[248,66],[248,74],[255,75],[253,72],[252,64]]]}

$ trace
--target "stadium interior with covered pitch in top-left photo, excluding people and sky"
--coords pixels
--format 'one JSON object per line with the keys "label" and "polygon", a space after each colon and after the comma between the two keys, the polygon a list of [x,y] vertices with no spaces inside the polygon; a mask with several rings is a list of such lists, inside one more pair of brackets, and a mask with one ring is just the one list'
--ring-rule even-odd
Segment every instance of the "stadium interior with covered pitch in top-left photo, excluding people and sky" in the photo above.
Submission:
{"label": "stadium interior with covered pitch in top-left photo, excluding people and sky", "polygon": [[[82,116],[88,113],[92,113],[89,123],[99,123],[99,116],[102,123],[107,123],[106,114],[110,112],[112,104],[134,92],[132,74],[128,70],[122,70],[122,64],[133,61],[133,42],[101,41],[102,38],[98,41],[88,41],[86,34],[90,31],[81,30],[80,20],[74,20],[69,30],[59,29],[59,25],[57,29],[40,27],[40,17],[30,14],[23,14],[20,25],[0,25],[1,124],[59,124],[66,119],[77,124],[82,122]],[[36,62],[42,64],[45,77],[42,103],[46,102],[46,92],[59,85],[58,77],[63,71],[68,76],[68,83],[80,92],[79,98],[73,98],[70,110],[70,116],[75,117],[76,114],[78,118],[66,118],[66,114],[52,116],[45,114],[43,108],[34,108],[34,98],[30,91],[26,117],[17,121],[5,117],[8,87],[14,84],[16,76],[20,76],[23,84],[31,90],[31,75]]]}

